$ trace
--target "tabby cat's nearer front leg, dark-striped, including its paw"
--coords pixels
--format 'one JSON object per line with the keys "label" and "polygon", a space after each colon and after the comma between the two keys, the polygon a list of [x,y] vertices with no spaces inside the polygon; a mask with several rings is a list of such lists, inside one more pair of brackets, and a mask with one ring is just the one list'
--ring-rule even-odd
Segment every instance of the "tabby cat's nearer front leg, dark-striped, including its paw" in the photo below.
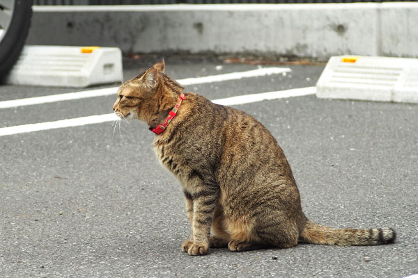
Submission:
{"label": "tabby cat's nearer front leg, dark-striped, including its paw", "polygon": [[189,255],[206,255],[209,249],[210,226],[215,212],[219,187],[211,183],[199,183],[191,194],[193,202],[192,237]]}

